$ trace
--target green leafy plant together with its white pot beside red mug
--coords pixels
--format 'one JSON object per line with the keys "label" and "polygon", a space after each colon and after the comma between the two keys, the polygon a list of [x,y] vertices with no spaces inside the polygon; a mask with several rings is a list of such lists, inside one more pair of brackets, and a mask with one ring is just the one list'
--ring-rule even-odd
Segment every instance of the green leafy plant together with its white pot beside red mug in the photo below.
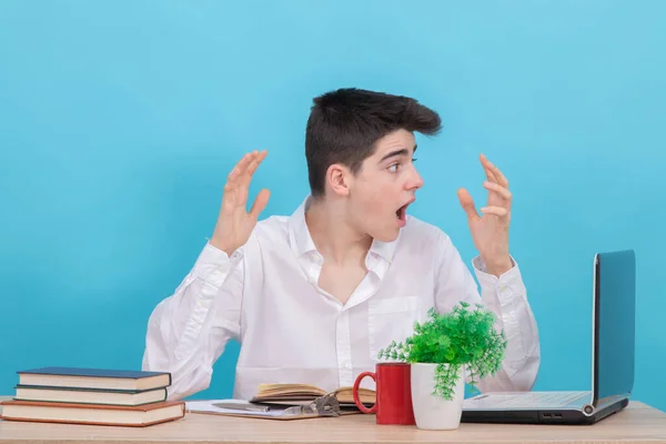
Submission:
{"label": "green leafy plant together with its white pot beside red mug", "polygon": [[460,302],[448,313],[431,309],[414,333],[380,350],[379,357],[412,364],[412,405],[420,428],[457,428],[465,392],[465,371],[474,385],[502,366],[504,332],[494,326],[493,312]]}

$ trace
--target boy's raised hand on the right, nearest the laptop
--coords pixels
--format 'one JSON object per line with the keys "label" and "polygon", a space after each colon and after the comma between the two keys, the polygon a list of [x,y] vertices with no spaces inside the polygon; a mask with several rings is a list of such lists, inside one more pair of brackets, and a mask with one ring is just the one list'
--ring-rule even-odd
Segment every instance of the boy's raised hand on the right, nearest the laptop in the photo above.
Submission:
{"label": "boy's raised hand on the right, nearest the laptop", "polygon": [[486,174],[484,188],[488,190],[487,203],[481,209],[483,215],[477,214],[467,190],[460,189],[457,194],[467,214],[470,232],[476,250],[484,260],[488,273],[500,276],[513,266],[508,254],[512,194],[508,191],[508,181],[500,169],[483,154],[480,160]]}

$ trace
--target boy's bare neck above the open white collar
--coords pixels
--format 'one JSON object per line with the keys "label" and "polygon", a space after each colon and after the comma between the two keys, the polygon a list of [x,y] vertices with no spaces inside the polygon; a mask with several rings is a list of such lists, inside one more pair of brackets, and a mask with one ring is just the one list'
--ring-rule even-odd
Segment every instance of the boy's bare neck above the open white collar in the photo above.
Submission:
{"label": "boy's bare neck above the open white collar", "polygon": [[311,200],[305,224],[316,250],[340,266],[364,264],[372,238],[359,232],[349,221],[343,201]]}

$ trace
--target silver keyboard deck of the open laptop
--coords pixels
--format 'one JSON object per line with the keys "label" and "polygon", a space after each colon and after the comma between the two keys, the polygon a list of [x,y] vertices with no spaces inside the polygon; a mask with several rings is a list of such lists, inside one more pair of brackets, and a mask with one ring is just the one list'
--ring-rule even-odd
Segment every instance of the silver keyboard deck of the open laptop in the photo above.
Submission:
{"label": "silver keyboard deck of the open laptop", "polygon": [[589,392],[522,392],[493,393],[476,400],[465,400],[468,408],[551,408],[562,407],[581,398],[589,398]]}

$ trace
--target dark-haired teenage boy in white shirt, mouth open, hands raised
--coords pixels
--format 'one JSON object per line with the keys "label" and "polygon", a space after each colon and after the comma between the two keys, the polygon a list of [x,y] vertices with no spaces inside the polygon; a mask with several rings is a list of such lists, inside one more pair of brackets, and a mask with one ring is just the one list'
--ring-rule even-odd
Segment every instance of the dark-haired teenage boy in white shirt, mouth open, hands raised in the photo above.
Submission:
{"label": "dark-haired teenage boy in white shirt, mouth open, hands raised", "polygon": [[245,154],[226,179],[213,235],[149,320],[143,369],[172,373],[169,397],[206,389],[231,339],[241,344],[236,398],[262,383],[349,386],[430,307],[460,301],[492,310],[508,342],[501,371],[478,389],[531,390],[538,333],[509,255],[506,178],[481,157],[481,214],[458,190],[481,294],[451,239],[407,214],[423,185],[414,132],[440,129],[437,113],[411,98],[359,89],[315,98],[305,134],[311,193],[291,216],[260,222],[269,191],[248,211],[248,189],[266,152]]}

